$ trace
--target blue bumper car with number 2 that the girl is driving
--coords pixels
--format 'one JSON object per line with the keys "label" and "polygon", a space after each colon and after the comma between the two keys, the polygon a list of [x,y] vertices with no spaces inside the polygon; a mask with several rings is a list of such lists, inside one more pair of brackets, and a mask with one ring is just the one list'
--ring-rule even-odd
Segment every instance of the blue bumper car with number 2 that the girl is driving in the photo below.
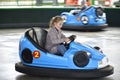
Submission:
{"label": "blue bumper car with number 2 that the girl is driving", "polygon": [[99,47],[91,47],[75,41],[69,43],[63,56],[49,53],[45,47],[47,31],[30,28],[19,42],[20,62],[18,72],[46,77],[99,78],[114,72],[108,58]]}

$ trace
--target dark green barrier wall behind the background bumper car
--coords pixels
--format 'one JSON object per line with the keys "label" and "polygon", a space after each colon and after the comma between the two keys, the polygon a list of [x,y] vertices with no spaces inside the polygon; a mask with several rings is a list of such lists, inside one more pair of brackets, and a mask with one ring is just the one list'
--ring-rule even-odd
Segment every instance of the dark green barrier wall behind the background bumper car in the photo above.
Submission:
{"label": "dark green barrier wall behind the background bumper car", "polygon": [[[73,8],[1,8],[0,28],[21,28],[48,25],[51,17]],[[109,26],[120,27],[120,9],[105,8]]]}

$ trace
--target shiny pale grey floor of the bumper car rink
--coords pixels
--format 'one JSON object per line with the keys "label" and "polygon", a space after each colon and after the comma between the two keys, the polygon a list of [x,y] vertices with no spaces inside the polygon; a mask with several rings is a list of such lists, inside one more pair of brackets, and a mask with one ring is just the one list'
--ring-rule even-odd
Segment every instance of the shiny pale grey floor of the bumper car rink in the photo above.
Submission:
{"label": "shiny pale grey floor of the bumper car rink", "polygon": [[[18,47],[19,39],[25,29],[2,29],[0,30],[0,80],[84,80],[47,78],[25,75],[15,71],[15,63],[19,62]],[[106,28],[99,32],[63,32],[69,36],[77,35],[76,41],[91,46],[99,46],[108,56],[110,64],[114,66],[114,74],[105,78],[87,80],[120,80],[120,28]]]}

